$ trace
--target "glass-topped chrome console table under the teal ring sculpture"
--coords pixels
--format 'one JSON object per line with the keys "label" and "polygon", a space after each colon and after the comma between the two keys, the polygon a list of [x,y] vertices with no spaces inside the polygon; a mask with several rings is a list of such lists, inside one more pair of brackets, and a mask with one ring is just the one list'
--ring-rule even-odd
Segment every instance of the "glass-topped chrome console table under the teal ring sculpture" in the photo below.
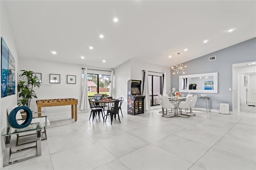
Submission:
{"label": "glass-topped chrome console table under the teal ring sculpture", "polygon": [[[21,129],[7,127],[4,130],[4,133],[2,134],[2,136],[4,137],[4,143],[5,143],[3,166],[7,166],[7,165],[10,165],[10,164],[21,162],[23,160],[28,160],[28,159],[31,159],[31,158],[35,158],[37,156],[41,156],[42,155],[42,151],[41,151],[41,130],[42,130],[42,128],[40,126],[40,123],[33,123],[33,124],[28,125],[28,127],[21,128]],[[20,150],[15,151],[15,152],[12,151],[12,149],[11,149],[11,136],[12,135],[14,135],[14,134],[19,134],[20,135],[20,134],[25,133],[25,132],[33,132],[33,131],[36,132],[36,141],[34,141],[34,142],[36,142],[36,146],[31,146],[31,147],[28,147],[28,148],[22,148]],[[22,144],[20,144],[20,145],[22,145]],[[36,154],[35,155],[28,156],[26,158],[22,158],[22,159],[18,159],[18,160],[10,161],[11,154],[21,152],[21,151],[24,151],[24,150],[28,150],[28,149],[33,149],[33,148],[36,148]]]}

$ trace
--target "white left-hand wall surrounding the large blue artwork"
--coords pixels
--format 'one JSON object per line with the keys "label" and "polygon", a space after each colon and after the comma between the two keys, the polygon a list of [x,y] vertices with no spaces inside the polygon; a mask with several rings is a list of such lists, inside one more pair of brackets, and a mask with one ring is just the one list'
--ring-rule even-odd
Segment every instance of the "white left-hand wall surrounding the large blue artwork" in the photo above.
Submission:
{"label": "white left-hand wall surrounding the large blue artwork", "polygon": [[[16,82],[17,82],[17,70],[18,70],[18,55],[16,51],[16,45],[15,41],[12,35],[12,28],[10,26],[10,23],[8,21],[8,16],[6,13],[6,7],[5,4],[1,1],[0,2],[0,18],[1,18],[1,26],[0,26],[0,35],[4,38],[4,41],[8,45],[10,51],[12,52],[12,55],[15,59],[15,74],[16,74]],[[1,54],[2,56],[2,54]],[[7,119],[7,107],[17,104],[17,88],[16,88],[16,95],[7,96],[0,99],[0,132],[2,134],[4,128],[8,126],[8,119]],[[0,168],[2,168],[2,158],[4,153],[4,141],[2,140],[2,136],[0,137]]]}

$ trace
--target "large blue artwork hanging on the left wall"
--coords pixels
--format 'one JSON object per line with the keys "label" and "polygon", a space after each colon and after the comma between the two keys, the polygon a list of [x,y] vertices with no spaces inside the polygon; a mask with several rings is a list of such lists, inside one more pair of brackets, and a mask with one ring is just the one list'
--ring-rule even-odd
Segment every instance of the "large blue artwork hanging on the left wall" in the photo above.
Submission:
{"label": "large blue artwork hanging on the left wall", "polygon": [[6,97],[15,94],[15,59],[2,37],[1,43],[1,97]]}

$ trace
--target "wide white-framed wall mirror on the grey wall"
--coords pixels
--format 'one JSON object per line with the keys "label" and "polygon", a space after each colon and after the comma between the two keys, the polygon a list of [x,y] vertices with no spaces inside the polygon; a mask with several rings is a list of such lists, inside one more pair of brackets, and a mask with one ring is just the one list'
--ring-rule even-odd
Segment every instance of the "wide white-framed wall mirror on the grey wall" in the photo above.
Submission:
{"label": "wide white-framed wall mirror on the grey wall", "polygon": [[218,73],[180,75],[179,92],[218,93]]}

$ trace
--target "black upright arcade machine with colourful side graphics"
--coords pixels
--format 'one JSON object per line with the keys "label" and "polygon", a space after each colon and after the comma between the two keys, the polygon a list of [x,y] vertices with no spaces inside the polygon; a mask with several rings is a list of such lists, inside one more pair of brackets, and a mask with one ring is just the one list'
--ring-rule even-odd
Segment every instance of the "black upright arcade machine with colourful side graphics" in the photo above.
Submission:
{"label": "black upright arcade machine with colourful side graphics", "polygon": [[141,95],[141,80],[128,81],[128,102],[127,109],[129,115],[138,115],[144,113],[144,99]]}

